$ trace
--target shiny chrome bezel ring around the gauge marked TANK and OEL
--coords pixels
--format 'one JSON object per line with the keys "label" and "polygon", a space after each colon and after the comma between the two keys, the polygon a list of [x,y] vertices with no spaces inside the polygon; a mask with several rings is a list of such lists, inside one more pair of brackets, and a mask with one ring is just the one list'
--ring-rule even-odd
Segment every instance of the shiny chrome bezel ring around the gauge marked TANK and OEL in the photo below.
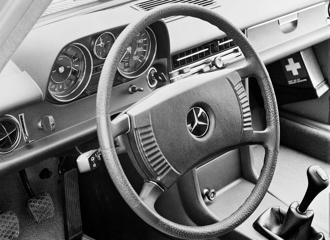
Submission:
{"label": "shiny chrome bezel ring around the gauge marked TANK and OEL", "polygon": [[[52,93],[48,87],[48,92],[50,93],[51,97],[60,102],[69,102],[69,101],[72,101],[72,100],[75,100],[76,98],[78,98],[83,93],[83,91],[85,91],[86,87],[88,86],[91,76],[92,76],[92,70],[93,70],[93,59],[92,59],[92,55],[90,54],[88,48],[86,48],[84,45],[82,45],[80,43],[72,43],[72,44],[69,44],[68,46],[75,46],[82,52],[82,56],[84,57],[84,61],[85,61],[85,66],[84,66],[84,71],[83,71],[82,76],[78,79],[78,81],[81,79],[80,83],[76,86],[76,88],[73,91],[71,91],[67,95],[58,96],[58,95]],[[84,53],[84,51],[82,51],[81,48],[83,48],[83,50],[85,50],[86,53],[89,55],[90,65],[91,65],[90,69],[87,69],[86,54]],[[85,81],[85,78],[88,75],[87,70],[89,71],[89,76],[88,76],[87,81]],[[80,91],[80,93],[76,94],[73,98],[68,98],[68,97],[70,97],[70,95],[73,95],[74,93],[76,93],[77,89],[83,84],[83,82],[85,82],[85,83],[84,83],[84,86],[83,86],[82,90]]]}

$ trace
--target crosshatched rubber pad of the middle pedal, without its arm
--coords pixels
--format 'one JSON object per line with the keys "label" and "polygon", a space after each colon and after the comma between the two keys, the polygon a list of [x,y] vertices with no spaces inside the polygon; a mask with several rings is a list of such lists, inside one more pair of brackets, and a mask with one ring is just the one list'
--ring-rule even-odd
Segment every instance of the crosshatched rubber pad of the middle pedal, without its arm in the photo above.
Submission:
{"label": "crosshatched rubber pad of the middle pedal, without its arm", "polygon": [[53,199],[47,192],[30,198],[26,205],[35,222],[43,222],[54,216]]}

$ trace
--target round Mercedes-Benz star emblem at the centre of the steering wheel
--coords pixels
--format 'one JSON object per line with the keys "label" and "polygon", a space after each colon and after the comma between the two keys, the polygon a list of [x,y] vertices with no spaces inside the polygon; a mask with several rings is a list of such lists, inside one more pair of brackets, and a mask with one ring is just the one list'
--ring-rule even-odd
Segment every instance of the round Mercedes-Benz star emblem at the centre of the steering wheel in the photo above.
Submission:
{"label": "round Mercedes-Benz star emblem at the centre of the steering wheel", "polygon": [[209,116],[201,107],[193,107],[187,115],[187,127],[189,132],[197,138],[203,137],[209,130]]}

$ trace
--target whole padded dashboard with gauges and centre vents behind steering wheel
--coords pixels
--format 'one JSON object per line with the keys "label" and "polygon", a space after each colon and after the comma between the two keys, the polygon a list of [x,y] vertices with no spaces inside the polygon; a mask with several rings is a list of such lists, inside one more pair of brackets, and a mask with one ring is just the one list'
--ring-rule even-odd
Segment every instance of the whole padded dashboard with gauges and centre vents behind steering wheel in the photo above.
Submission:
{"label": "whole padded dashboard with gauges and centre vents behind steering wheel", "polygon": [[[328,1],[280,0],[271,9],[264,2],[223,0],[213,10],[246,34],[266,64],[330,38]],[[144,14],[134,2],[108,4],[70,18],[38,22],[1,72],[0,116],[18,119],[16,128],[23,129],[23,137],[15,149],[0,154],[0,174],[14,173],[96,137],[96,93],[106,56],[121,31]],[[279,22],[296,15],[296,29],[283,33]],[[151,24],[136,34],[118,65],[112,114],[157,88],[214,71],[216,57],[222,68],[244,60],[225,33],[202,20],[177,17]],[[42,119],[54,123],[50,131],[40,127]]]}

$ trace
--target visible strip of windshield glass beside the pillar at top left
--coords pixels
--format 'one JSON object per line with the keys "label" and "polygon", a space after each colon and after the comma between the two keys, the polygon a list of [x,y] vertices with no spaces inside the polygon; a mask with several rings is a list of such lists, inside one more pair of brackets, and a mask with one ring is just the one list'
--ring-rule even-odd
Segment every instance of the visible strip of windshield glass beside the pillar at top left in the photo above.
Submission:
{"label": "visible strip of windshield glass beside the pillar at top left", "polygon": [[53,0],[41,17],[99,0]]}

